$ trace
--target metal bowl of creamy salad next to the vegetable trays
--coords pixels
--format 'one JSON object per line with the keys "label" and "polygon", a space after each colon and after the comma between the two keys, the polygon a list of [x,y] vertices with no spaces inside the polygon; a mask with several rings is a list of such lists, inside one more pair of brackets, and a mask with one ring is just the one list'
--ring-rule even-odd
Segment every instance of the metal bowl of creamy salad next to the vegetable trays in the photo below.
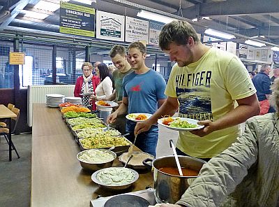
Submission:
{"label": "metal bowl of creamy salad next to the vegetable trays", "polygon": [[[84,160],[82,159],[82,155],[84,155],[84,153],[87,154],[90,153],[91,155],[95,155],[96,153],[96,155],[98,156],[93,156],[94,160],[91,159]],[[100,157],[100,159],[96,159],[96,157]],[[105,149],[84,150],[77,154],[77,159],[80,161],[80,165],[82,166],[83,169],[87,171],[98,171],[99,169],[110,167],[112,166],[112,163],[114,162],[115,158],[116,158],[116,154],[114,152]]]}

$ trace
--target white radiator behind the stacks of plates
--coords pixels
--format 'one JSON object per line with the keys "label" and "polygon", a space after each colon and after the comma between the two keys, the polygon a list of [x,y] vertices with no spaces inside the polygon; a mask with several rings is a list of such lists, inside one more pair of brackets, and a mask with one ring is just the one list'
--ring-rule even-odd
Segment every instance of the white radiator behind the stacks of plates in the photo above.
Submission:
{"label": "white radiator behind the stacks of plates", "polygon": [[32,127],[33,103],[45,103],[46,94],[63,94],[73,97],[75,85],[29,85],[27,90],[27,123]]}

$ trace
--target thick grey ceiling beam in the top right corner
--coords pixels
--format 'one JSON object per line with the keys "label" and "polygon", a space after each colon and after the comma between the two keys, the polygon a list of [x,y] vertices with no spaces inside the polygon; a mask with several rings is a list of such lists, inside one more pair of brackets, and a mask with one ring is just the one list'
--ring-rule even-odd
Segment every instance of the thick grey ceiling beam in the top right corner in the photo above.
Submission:
{"label": "thick grey ceiling beam in the top right corner", "polygon": [[[199,7],[199,9],[197,9]],[[182,10],[183,17],[193,19],[197,16],[249,15],[278,13],[278,0],[227,0],[212,3],[200,3]]]}

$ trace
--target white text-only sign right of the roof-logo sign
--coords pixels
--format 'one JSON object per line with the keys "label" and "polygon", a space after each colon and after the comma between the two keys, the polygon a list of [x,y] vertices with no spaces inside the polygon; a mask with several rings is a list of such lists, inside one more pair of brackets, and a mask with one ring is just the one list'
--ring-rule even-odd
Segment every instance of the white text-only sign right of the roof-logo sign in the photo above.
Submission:
{"label": "white text-only sign right of the roof-logo sign", "polygon": [[133,17],[126,17],[125,41],[146,41],[149,43],[149,22]]}

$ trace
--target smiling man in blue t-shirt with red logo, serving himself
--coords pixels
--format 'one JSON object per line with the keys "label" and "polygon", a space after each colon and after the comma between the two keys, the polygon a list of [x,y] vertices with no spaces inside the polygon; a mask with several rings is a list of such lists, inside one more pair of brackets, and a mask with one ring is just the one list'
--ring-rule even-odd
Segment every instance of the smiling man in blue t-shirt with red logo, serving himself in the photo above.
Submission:
{"label": "smiling man in blue t-shirt with red logo, serving himself", "polygon": [[[119,108],[112,113],[107,122],[114,122],[116,117],[126,113],[149,113],[153,114],[165,101],[165,80],[156,71],[145,65],[146,48],[140,42],[131,43],[128,46],[128,62],[134,71],[123,78],[123,99]],[[136,122],[127,121],[126,136],[133,143],[135,140],[134,130]],[[156,156],[158,142],[158,125],[142,134],[137,135],[135,145],[140,150]]]}

